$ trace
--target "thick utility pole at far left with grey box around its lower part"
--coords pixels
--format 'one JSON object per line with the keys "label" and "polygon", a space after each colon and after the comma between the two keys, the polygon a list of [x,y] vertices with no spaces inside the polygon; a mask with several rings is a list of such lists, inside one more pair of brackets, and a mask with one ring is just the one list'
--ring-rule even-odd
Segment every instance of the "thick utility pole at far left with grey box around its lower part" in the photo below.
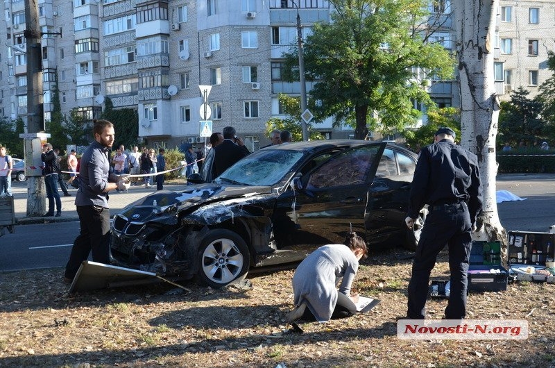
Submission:
{"label": "thick utility pole at far left with grey box around its lower part", "polygon": [[42,142],[50,137],[44,132],[42,107],[42,44],[37,0],[25,0],[25,30],[27,56],[27,133],[24,138],[27,173],[27,216],[42,216],[46,212],[44,178],[42,177]]}

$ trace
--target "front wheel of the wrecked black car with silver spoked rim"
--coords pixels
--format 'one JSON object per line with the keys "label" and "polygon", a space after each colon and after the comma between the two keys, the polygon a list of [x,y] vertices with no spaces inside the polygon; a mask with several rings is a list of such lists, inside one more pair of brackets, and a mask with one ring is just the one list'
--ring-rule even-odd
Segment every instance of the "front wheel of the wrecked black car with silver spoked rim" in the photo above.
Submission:
{"label": "front wheel of the wrecked black car with silver spoked rim", "polygon": [[214,288],[243,280],[250,267],[248,246],[237,233],[210,231],[198,249],[198,283]]}

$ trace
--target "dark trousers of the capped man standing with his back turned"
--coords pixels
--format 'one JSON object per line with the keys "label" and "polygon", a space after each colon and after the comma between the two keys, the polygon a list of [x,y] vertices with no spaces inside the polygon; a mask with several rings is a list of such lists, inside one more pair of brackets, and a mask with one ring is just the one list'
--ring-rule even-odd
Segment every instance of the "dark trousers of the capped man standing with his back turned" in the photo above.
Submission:
{"label": "dark trousers of the capped man standing with his back turned", "polygon": [[423,319],[429,292],[429,275],[438,253],[448,245],[451,271],[450,296],[445,308],[447,319],[466,316],[467,272],[472,248],[472,225],[466,203],[430,206],[418,249],[414,256],[412,277],[409,283],[409,319]]}

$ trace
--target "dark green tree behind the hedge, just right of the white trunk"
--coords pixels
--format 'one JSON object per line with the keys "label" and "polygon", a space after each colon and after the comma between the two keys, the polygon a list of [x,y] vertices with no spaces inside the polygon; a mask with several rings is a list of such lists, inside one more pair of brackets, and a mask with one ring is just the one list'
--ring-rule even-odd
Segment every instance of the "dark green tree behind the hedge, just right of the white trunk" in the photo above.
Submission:
{"label": "dark green tree behind the hedge, just right of the white trunk", "polygon": [[519,87],[511,93],[511,101],[501,103],[499,113],[499,140],[501,147],[509,142],[511,147],[519,147],[524,142],[526,147],[533,147],[534,142],[545,137],[545,122],[540,117],[542,103],[529,99],[529,91]]}

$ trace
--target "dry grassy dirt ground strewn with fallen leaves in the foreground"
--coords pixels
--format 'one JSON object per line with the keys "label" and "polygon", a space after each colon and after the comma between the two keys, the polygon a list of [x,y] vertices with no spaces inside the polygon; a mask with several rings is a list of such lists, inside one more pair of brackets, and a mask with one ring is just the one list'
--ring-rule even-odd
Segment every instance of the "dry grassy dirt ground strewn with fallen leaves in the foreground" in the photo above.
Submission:
{"label": "dry grassy dirt ground strewn with fallen leaves in the foreground", "polygon": [[[432,273],[447,278],[445,255]],[[355,289],[373,310],[293,332],[293,270],[250,275],[252,288],[169,284],[68,294],[61,269],[0,274],[0,367],[549,367],[554,287],[510,283],[471,293],[469,319],[526,319],[528,340],[400,340],[411,253],[370,256]],[[441,319],[445,299],[428,301]]]}

